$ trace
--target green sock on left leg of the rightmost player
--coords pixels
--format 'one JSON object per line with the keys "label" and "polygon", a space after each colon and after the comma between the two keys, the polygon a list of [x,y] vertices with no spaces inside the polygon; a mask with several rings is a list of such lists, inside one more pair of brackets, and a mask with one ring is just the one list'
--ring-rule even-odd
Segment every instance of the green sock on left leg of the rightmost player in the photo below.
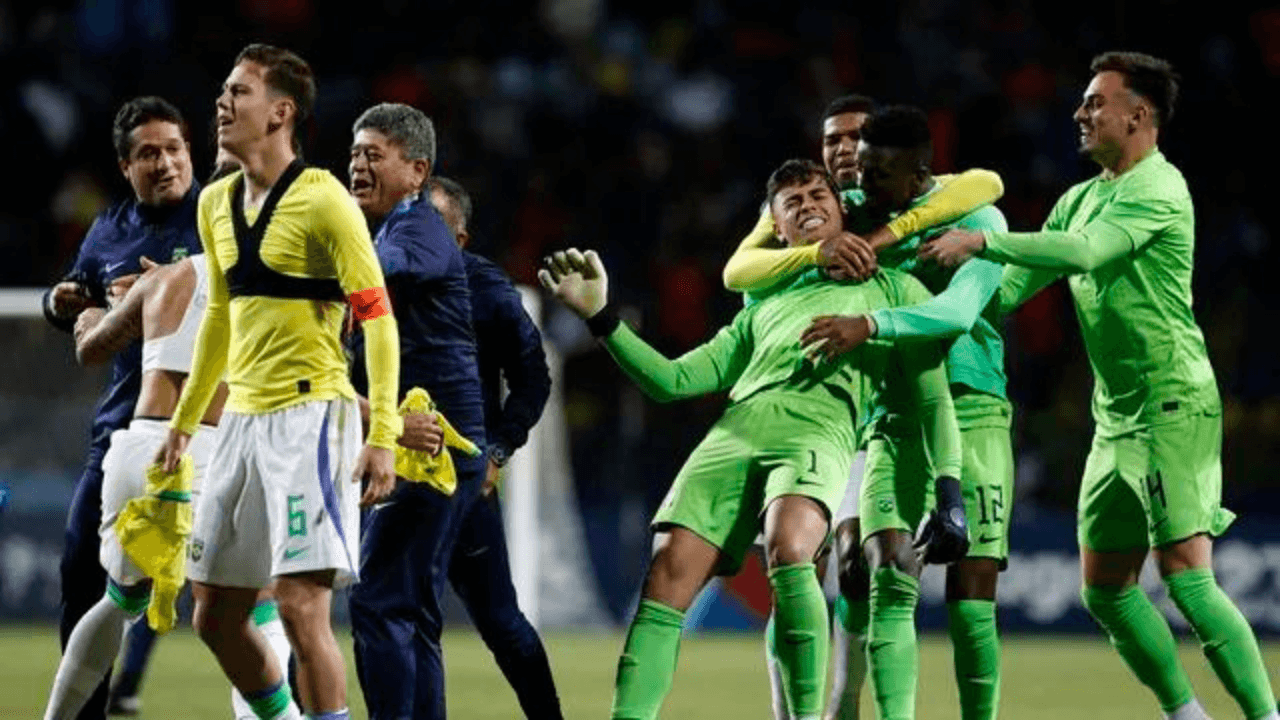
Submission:
{"label": "green sock on left leg of the rightmost player", "polygon": [[1133,674],[1156,693],[1161,710],[1172,712],[1196,697],[1178,661],[1174,633],[1140,587],[1085,585],[1080,597]]}

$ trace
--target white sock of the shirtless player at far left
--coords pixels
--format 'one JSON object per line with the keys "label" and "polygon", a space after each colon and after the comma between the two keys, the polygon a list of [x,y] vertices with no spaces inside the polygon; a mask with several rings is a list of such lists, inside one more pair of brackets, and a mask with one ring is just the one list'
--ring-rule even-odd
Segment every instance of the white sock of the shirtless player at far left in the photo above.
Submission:
{"label": "white sock of the shirtless player at far left", "polygon": [[124,625],[132,620],[110,597],[102,596],[67,639],[67,651],[54,676],[45,720],[73,720],[111,669],[120,651]]}

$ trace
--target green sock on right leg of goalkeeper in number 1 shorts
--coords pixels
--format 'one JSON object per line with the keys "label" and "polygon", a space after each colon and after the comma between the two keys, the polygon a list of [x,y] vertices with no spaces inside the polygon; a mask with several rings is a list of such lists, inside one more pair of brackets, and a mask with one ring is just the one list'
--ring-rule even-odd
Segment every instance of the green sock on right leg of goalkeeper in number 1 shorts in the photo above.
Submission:
{"label": "green sock on right leg of goalkeeper in number 1 shorts", "polygon": [[769,570],[773,587],[773,657],[794,717],[822,712],[827,684],[827,598],[813,562]]}

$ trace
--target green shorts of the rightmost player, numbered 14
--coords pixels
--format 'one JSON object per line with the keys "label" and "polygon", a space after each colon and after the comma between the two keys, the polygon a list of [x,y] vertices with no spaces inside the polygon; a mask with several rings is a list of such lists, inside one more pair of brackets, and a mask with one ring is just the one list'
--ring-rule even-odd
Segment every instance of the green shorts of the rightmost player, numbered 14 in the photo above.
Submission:
{"label": "green shorts of the rightmost player, numbered 14", "polygon": [[1222,507],[1222,411],[1187,410],[1120,436],[1093,437],[1076,511],[1080,547],[1164,547],[1235,519]]}

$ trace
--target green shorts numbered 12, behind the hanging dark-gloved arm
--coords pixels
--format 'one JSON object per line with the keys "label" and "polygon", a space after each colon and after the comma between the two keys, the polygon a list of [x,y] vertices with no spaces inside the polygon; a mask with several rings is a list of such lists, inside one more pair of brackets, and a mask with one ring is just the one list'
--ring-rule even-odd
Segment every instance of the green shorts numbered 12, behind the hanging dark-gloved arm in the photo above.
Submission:
{"label": "green shorts numbered 12, behind the hanging dark-gloved arm", "polygon": [[[1012,407],[1002,397],[980,392],[957,395],[955,406],[964,454],[960,489],[969,520],[968,557],[989,557],[1004,569],[1014,502]],[[867,446],[859,498],[863,542],[888,529],[915,532],[933,503],[933,469],[919,424],[906,418],[883,423]]]}

